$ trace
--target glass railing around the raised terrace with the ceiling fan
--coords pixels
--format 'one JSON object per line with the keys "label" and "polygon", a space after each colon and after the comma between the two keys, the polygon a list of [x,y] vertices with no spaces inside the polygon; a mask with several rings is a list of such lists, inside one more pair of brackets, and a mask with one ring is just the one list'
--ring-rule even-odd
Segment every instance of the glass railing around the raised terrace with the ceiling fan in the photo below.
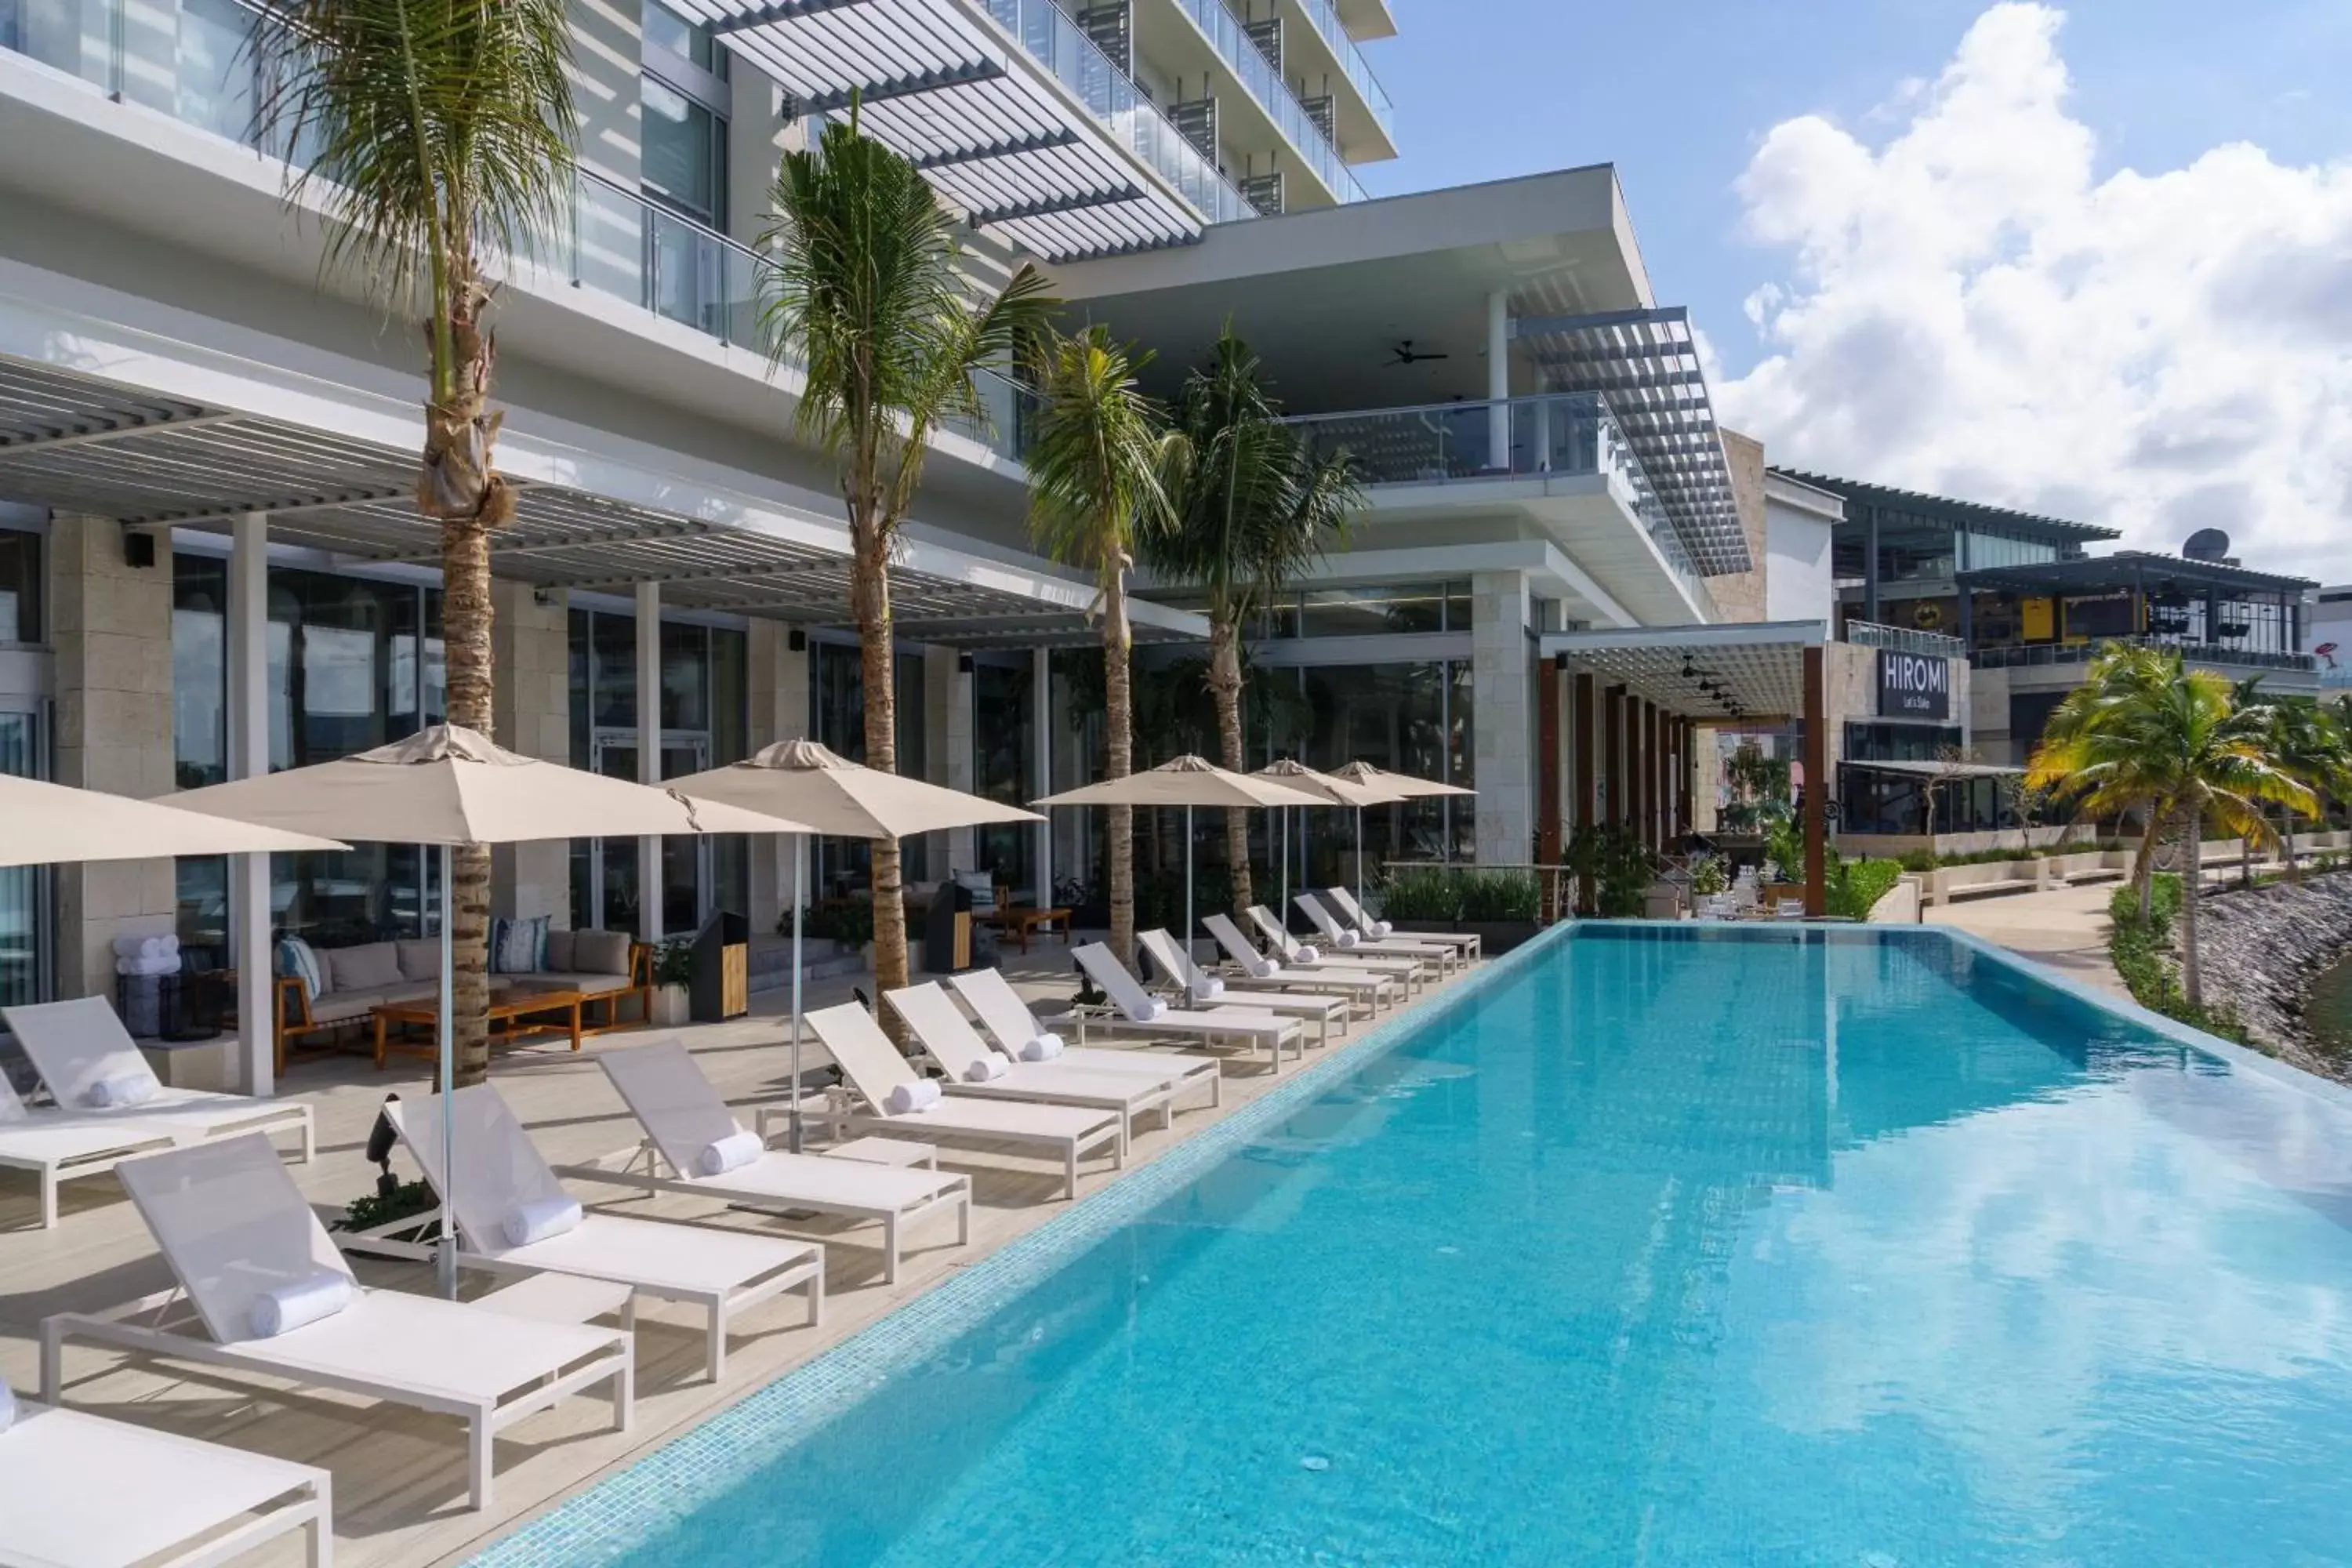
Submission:
{"label": "glass railing around the raised terrace with the ceiling fan", "polygon": [[1550,393],[1508,402],[1435,402],[1418,409],[1362,409],[1352,414],[1303,414],[1287,421],[1308,449],[1329,456],[1345,449],[1367,484],[1475,484],[1482,480],[1531,480],[1602,475],[1632,496],[1668,571],[1710,618],[1715,597],[1691,567],[1665,503],[1642,473],[1616,414],[1599,393]]}

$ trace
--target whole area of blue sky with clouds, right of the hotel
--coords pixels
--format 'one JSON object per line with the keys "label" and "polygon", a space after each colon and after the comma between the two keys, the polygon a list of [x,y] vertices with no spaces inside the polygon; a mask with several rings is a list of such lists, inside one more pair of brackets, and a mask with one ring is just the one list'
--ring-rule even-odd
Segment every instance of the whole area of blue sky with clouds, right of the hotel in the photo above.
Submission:
{"label": "whole area of blue sky with clouds, right of the hotel", "polygon": [[1374,195],[1613,162],[1773,463],[2352,581],[2352,0],[1390,0]]}

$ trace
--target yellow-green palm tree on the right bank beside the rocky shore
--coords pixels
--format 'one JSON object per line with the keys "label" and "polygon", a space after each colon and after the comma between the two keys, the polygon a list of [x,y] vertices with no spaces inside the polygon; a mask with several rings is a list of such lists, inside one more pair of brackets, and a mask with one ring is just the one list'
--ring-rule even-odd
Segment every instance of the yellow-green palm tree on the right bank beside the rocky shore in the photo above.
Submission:
{"label": "yellow-green palm tree on the right bank beside the rocky shore", "polygon": [[2206,827],[2270,844],[2277,835],[2265,804],[2310,811],[2312,792],[2270,757],[2267,708],[2239,708],[2232,684],[2211,670],[2180,670],[2178,654],[2161,656],[2173,679],[2107,710],[2070,741],[2044,741],[2032,773],[2096,802],[2157,799],[2159,820],[2178,825],[2192,849],[2183,872],[2180,980],[2192,1006],[2204,1006],[2197,952],[2197,912],[2204,875],[2197,846]]}

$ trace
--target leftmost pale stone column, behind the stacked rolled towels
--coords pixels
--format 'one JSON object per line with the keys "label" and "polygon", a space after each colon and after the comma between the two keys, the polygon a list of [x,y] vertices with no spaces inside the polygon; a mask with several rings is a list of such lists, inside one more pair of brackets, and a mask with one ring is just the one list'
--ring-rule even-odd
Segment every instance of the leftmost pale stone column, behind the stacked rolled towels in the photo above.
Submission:
{"label": "leftmost pale stone column, behind the stacked rolled towels", "polygon": [[[56,780],[141,799],[172,776],[172,538],[132,567],[111,517],[49,524],[49,642],[56,651]],[[169,936],[172,860],[56,867],[56,990],[115,994],[118,936]]]}

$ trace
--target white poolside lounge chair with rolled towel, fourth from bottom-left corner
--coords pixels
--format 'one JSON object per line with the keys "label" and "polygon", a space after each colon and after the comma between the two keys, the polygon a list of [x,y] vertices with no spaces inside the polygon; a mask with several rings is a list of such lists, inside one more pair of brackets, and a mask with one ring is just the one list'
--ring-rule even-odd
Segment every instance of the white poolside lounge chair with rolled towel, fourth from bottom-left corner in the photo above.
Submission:
{"label": "white poolside lounge chair with rolled towel, fourth from bottom-left corner", "polygon": [[898,1281],[898,1239],[924,1215],[953,1211],[955,1244],[971,1241],[969,1175],[783,1150],[762,1150],[746,1166],[703,1175],[703,1152],[743,1135],[743,1124],[734,1119],[687,1048],[675,1039],[656,1039],[628,1051],[607,1051],[597,1065],[621,1093],[628,1114],[644,1128],[644,1143],[583,1166],[555,1166],[557,1175],[640,1192],[691,1192],[767,1213],[814,1211],[873,1220],[882,1227],[882,1284]]}

